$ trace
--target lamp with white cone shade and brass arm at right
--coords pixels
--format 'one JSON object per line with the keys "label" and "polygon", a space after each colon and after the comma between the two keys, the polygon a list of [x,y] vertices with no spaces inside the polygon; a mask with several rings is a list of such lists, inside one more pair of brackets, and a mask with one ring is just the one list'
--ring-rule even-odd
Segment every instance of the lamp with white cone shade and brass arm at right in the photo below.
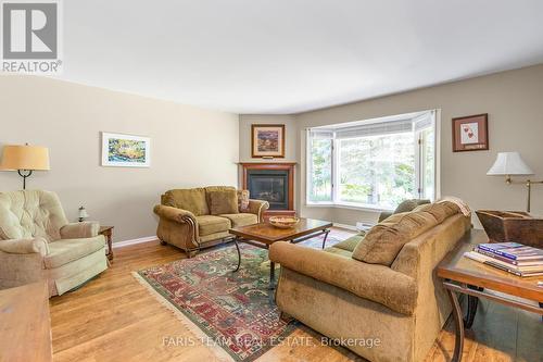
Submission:
{"label": "lamp with white cone shade and brass arm at right", "polygon": [[510,176],[529,176],[533,175],[533,171],[526,164],[525,160],[518,152],[500,152],[497,153],[496,161],[487,172],[489,176],[505,176],[505,183],[510,184],[525,184],[528,188],[528,198],[526,211],[530,212],[530,199],[532,184],[543,184],[543,180],[533,182],[527,179],[525,182],[513,180]]}

